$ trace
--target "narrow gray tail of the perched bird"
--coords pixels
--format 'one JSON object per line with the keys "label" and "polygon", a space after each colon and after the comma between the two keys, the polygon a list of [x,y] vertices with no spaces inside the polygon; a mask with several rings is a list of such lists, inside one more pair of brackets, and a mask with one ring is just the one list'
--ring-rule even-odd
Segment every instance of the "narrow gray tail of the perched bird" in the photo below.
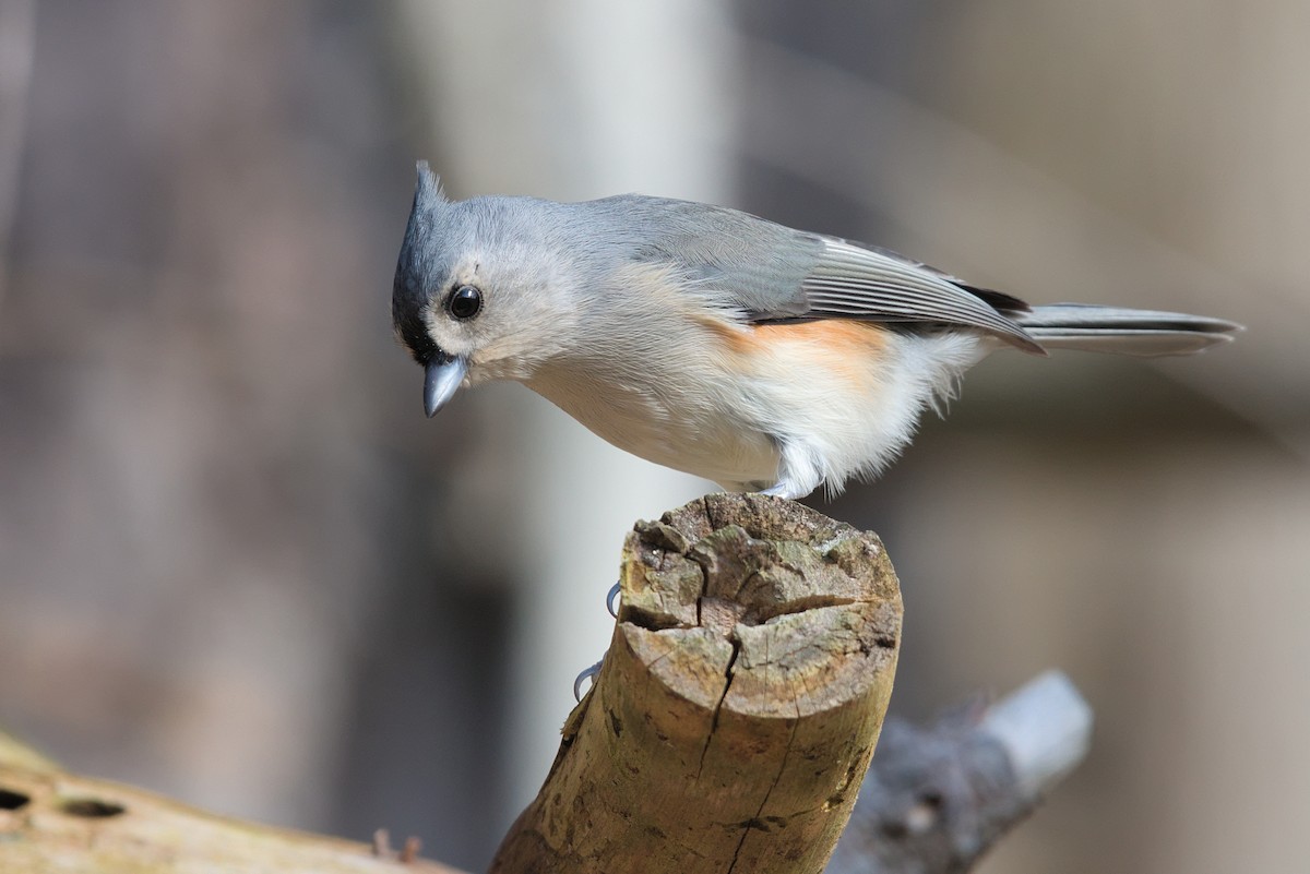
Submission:
{"label": "narrow gray tail of the perched bird", "polygon": [[1205,315],[1089,304],[1034,306],[1011,318],[1048,349],[1141,357],[1192,355],[1227,343],[1242,330],[1241,324]]}

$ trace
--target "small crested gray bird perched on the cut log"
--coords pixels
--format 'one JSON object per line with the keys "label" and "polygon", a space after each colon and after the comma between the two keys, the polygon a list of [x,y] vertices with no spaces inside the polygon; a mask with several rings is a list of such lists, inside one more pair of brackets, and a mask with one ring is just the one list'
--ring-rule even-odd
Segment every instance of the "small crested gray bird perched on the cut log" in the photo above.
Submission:
{"label": "small crested gray bird perched on the cut log", "polygon": [[883,249],[624,195],[448,201],[426,162],[392,317],[434,415],[517,379],[610,444],[730,491],[876,475],[1011,345],[1157,356],[1231,339],[1182,313],[1023,301]]}

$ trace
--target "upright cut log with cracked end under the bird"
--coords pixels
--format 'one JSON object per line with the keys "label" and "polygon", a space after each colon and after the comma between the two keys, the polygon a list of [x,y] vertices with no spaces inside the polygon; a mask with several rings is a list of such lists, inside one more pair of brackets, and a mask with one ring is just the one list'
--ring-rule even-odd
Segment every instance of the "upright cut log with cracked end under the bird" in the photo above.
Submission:
{"label": "upright cut log with cracked end under the bird", "polygon": [[491,871],[821,871],[896,667],[878,538],[710,495],[639,523],[621,582],[605,665]]}

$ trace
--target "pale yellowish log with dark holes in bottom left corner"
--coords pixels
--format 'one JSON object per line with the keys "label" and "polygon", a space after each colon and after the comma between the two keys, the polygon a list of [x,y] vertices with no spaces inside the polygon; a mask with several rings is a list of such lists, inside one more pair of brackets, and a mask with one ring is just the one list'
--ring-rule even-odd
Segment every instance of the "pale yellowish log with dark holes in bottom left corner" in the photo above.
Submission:
{"label": "pale yellowish log with dark holes in bottom left corner", "polygon": [[381,847],[215,816],[64,772],[0,735],[0,874],[460,874]]}

